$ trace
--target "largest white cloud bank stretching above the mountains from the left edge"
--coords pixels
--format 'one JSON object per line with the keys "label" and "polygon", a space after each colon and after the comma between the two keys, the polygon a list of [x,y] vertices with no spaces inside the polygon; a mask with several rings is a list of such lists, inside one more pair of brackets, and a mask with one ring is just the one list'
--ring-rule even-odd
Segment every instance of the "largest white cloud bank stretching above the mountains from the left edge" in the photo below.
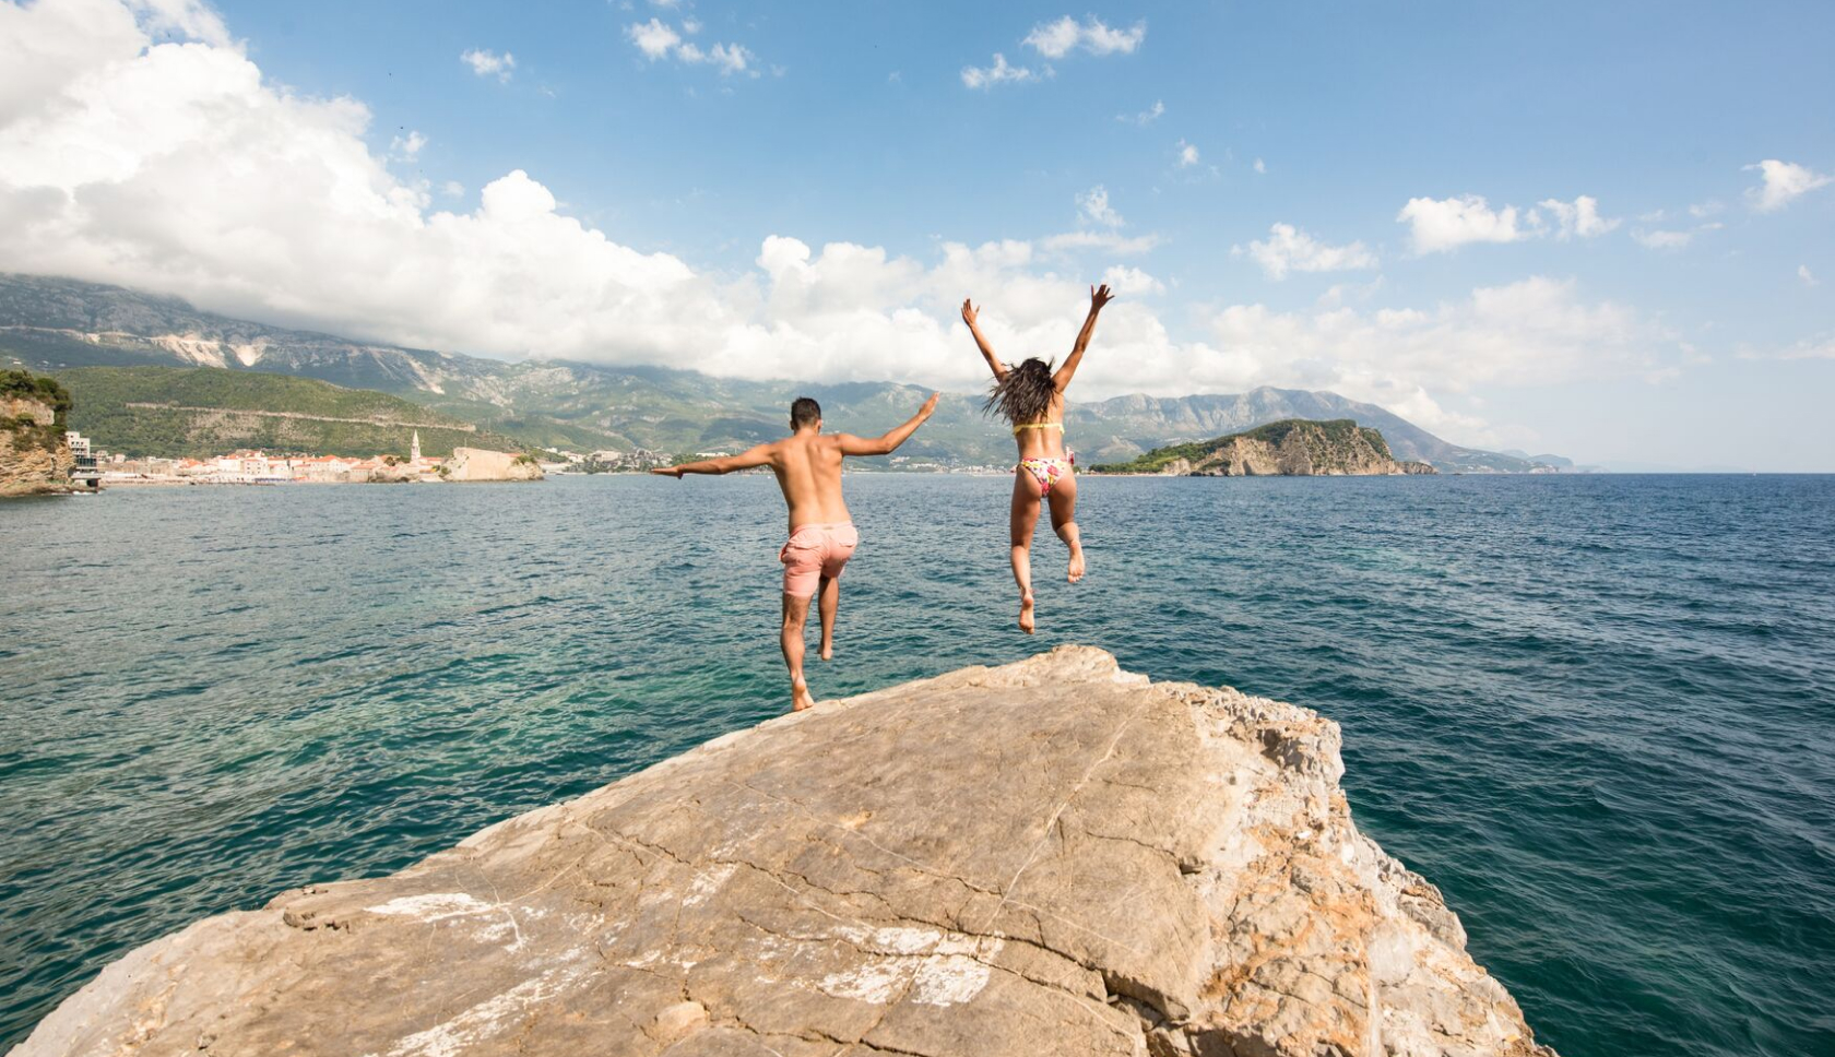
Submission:
{"label": "largest white cloud bank stretching above the mountains from the left edge", "polygon": [[[51,0],[0,11],[28,48],[68,29]],[[48,92],[0,79],[0,270],[424,349],[958,391],[984,384],[954,319],[965,295],[1004,356],[1062,354],[1101,275],[1130,295],[1103,317],[1084,396],[1329,387],[1466,442],[1483,426],[1448,393],[1663,365],[1661,330],[1551,279],[1429,308],[1222,305],[1174,336],[1141,299],[1160,279],[1084,259],[1152,244],[1121,235],[1103,187],[1079,196],[1092,229],[1039,242],[914,259],[773,233],[752,268],[712,272],[582,224],[523,171],[472,211],[435,207],[371,149],[361,103],[295,95],[233,46],[158,42],[127,18],[64,55]],[[1075,264],[1048,257],[1066,251]]]}

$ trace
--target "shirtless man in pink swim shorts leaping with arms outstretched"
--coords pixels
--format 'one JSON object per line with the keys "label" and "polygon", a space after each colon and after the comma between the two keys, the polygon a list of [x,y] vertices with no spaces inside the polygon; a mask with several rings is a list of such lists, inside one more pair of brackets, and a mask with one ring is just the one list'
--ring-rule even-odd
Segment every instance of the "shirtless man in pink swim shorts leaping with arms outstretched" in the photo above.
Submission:
{"label": "shirtless man in pink swim shorts leaping with arms outstretched", "polygon": [[732,473],[752,466],[771,466],[791,508],[791,538],[778,551],[784,563],[784,664],[791,670],[791,710],[815,705],[804,683],[804,622],[809,596],[820,595],[822,659],[835,655],[835,607],[840,604],[840,571],[861,543],[848,505],[840,499],[840,459],[844,455],[890,455],[925,418],[936,411],[936,395],[903,426],[883,437],[822,433],[822,406],[807,396],[791,404],[791,435],[760,444],[740,455],[705,459],[651,470],[681,479],[683,473]]}

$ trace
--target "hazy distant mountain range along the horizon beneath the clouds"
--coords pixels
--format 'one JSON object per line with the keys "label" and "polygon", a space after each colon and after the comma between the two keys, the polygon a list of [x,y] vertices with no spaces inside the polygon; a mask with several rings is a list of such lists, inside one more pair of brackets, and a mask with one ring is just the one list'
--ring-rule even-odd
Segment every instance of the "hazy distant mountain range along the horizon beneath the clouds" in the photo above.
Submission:
{"label": "hazy distant mountain range along the horizon beneath the clouds", "polygon": [[[163,365],[317,378],[400,396],[532,448],[573,451],[730,451],[780,437],[795,396],[815,396],[833,429],[877,433],[906,418],[927,395],[892,382],[751,382],[670,367],[508,363],[231,319],[121,286],[0,273],[0,362],[7,360],[51,374]],[[1009,462],[1011,439],[980,404],[974,395],[945,395],[930,424],[901,448],[903,461]],[[1273,387],[1079,402],[1066,411],[1066,429],[1079,457],[1125,462],[1165,444],[1283,418],[1352,418],[1380,429],[1396,459],[1442,472],[1519,473],[1554,459],[1461,448],[1374,404]]]}

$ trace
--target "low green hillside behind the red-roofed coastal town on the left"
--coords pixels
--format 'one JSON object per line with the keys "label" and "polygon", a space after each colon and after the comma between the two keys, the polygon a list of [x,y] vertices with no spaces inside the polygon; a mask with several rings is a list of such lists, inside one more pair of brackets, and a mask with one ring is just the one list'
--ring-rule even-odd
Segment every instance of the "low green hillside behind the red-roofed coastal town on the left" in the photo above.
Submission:
{"label": "low green hillside behind the red-roofed coastal town on the left", "polygon": [[70,428],[108,451],[204,457],[235,448],[321,455],[426,455],[455,446],[517,451],[517,440],[369,389],[220,367],[73,367]]}

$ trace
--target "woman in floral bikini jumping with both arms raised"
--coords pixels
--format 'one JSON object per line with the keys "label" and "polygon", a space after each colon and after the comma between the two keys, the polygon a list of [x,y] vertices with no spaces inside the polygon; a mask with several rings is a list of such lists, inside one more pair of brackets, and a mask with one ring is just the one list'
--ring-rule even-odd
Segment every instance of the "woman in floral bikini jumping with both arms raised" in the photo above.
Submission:
{"label": "woman in floral bikini jumping with both arms raised", "polygon": [[1033,631],[1031,596],[1031,536],[1039,525],[1039,501],[1051,505],[1051,530],[1070,547],[1070,582],[1083,580],[1083,540],[1077,536],[1077,477],[1072,473],[1072,455],[1064,448],[1064,389],[1083,362],[1095,332],[1095,316],[1114,295],[1108,286],[1090,288],[1090,314],[1077,332],[1064,365],[1051,365],[1037,356],[1018,367],[1002,363],[974,325],[976,308],[962,303],[962,321],[974,334],[982,358],[995,373],[995,387],[984,411],[1000,411],[1013,424],[1013,439],[1020,446],[1020,462],[1013,468],[1013,580],[1020,585],[1020,631]]}

